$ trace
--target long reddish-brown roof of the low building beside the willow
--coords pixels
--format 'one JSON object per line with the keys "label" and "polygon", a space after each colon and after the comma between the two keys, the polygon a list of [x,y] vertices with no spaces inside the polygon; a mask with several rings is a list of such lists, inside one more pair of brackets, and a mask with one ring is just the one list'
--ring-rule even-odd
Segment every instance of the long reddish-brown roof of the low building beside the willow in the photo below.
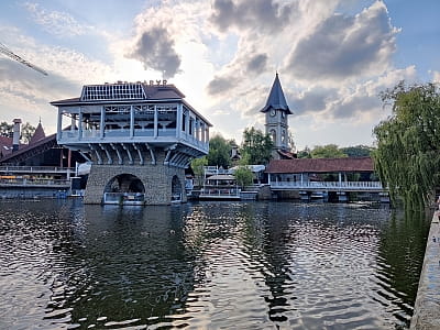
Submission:
{"label": "long reddish-brown roof of the low building beside the willow", "polygon": [[359,158],[296,158],[274,160],[266,173],[334,173],[334,172],[373,172],[371,157]]}

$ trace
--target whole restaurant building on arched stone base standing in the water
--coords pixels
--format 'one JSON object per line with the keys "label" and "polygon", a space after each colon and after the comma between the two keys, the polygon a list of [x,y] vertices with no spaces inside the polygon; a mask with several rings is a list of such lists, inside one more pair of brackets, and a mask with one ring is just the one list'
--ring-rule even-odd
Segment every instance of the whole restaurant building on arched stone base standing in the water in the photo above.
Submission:
{"label": "whole restaurant building on arched stone base standing in the water", "polygon": [[209,151],[211,123],[166,80],[87,85],[58,108],[57,142],[90,155],[86,204],[186,201],[185,168]]}

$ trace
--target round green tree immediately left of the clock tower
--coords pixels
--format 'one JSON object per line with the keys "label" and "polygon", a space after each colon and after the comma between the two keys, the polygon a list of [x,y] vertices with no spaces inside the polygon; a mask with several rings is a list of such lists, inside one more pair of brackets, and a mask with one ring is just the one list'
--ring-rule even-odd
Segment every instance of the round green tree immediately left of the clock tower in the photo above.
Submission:
{"label": "round green tree immediately left of the clock tower", "polygon": [[267,164],[271,161],[273,146],[274,143],[268,134],[263,134],[254,128],[244,130],[241,154],[248,155],[251,164]]}

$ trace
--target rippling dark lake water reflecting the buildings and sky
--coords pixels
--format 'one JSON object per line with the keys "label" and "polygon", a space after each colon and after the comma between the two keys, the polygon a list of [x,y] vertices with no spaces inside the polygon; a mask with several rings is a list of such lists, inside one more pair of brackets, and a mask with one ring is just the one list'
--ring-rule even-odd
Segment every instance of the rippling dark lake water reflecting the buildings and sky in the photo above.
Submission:
{"label": "rippling dark lake water reflecting the buildings and sky", "polygon": [[0,329],[405,329],[429,217],[0,201]]}

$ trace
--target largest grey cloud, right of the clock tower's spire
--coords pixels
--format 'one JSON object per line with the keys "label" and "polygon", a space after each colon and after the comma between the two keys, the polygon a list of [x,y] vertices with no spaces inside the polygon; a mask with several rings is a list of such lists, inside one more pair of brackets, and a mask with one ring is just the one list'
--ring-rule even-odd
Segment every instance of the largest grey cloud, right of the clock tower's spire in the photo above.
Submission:
{"label": "largest grey cloud, right of the clock tower's spire", "polygon": [[355,16],[336,13],[299,41],[286,67],[309,81],[377,75],[391,64],[397,32],[382,1]]}

